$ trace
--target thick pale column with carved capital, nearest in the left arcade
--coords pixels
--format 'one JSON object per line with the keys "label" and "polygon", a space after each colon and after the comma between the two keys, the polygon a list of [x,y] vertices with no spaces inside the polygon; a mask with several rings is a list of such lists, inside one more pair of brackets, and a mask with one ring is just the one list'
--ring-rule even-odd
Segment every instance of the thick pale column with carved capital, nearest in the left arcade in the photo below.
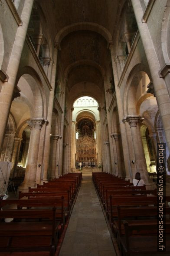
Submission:
{"label": "thick pale column with carved capital, nearest in the left arcade", "polygon": [[36,186],[36,168],[37,168],[37,159],[39,153],[39,140],[41,135],[42,125],[46,121],[43,118],[33,118],[28,121],[28,124],[31,128],[31,135],[29,141],[28,149],[28,162],[26,165],[25,178],[22,185],[19,187],[19,190],[25,191],[28,187]]}

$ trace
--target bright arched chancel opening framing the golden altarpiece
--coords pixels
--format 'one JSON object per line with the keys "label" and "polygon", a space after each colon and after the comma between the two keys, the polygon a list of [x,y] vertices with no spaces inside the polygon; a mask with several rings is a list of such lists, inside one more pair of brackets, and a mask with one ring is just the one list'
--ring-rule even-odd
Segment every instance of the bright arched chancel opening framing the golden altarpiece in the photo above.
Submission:
{"label": "bright arched chancel opening framing the golden altarpiece", "polygon": [[72,171],[95,168],[101,163],[101,133],[98,102],[88,96],[78,98],[72,112]]}

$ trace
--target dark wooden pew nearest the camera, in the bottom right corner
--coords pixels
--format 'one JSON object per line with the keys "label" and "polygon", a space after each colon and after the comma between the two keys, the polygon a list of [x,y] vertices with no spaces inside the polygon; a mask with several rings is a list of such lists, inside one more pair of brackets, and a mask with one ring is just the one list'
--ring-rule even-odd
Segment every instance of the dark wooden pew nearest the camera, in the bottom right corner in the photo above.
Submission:
{"label": "dark wooden pew nearest the camera, in the bottom right corner", "polygon": [[123,222],[125,236],[121,237],[121,255],[170,255],[170,220],[166,221],[166,252],[157,252],[157,220],[140,223]]}

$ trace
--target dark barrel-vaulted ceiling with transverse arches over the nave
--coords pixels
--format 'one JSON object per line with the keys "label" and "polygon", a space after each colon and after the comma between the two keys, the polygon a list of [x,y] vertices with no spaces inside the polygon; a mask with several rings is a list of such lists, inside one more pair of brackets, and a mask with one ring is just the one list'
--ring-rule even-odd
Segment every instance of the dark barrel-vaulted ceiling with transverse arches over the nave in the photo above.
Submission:
{"label": "dark barrel-vaulted ceiling with transverse arches over the nave", "polygon": [[53,40],[59,44],[58,74],[68,78],[69,91],[78,83],[79,91],[83,91],[81,84],[91,83],[103,92],[103,75],[111,63],[108,42],[114,41],[125,1],[37,0]]}

